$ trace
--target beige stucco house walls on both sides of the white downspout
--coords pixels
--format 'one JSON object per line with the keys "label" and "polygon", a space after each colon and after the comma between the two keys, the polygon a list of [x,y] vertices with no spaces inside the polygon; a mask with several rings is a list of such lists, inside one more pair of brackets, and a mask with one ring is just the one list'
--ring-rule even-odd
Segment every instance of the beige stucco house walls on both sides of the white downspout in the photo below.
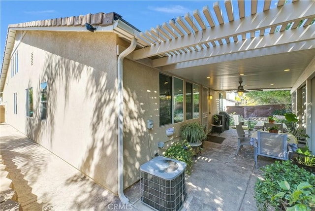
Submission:
{"label": "beige stucco house walls on both sides of the white downspout", "polygon": [[[27,32],[17,46],[19,72],[7,78],[6,122],[117,194],[117,55],[114,33]],[[14,53],[14,52],[13,52]],[[31,64],[33,55],[33,64]],[[10,67],[9,67],[10,70]],[[40,83],[47,82],[47,120],[40,119]],[[184,79],[184,92],[185,92]],[[192,82],[192,81],[189,81]],[[26,117],[25,90],[33,88],[33,117]],[[200,97],[202,96],[202,86]],[[13,114],[18,93],[18,114]],[[215,99],[209,101],[212,122]],[[139,180],[140,166],[181,140],[176,123],[159,127],[159,71],[124,60],[124,187]],[[202,99],[200,98],[200,106]],[[200,118],[189,121],[201,122]],[[153,120],[153,130],[146,127]],[[174,127],[173,138],[165,130]],[[158,142],[165,144],[158,148]],[[150,153],[150,147],[151,152]]]}

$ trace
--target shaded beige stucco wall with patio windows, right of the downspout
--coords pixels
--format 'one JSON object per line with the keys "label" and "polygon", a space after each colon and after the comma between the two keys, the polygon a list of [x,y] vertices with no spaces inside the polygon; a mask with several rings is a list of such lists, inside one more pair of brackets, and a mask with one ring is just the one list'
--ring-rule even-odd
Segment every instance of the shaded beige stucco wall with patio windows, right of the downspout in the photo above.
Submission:
{"label": "shaded beige stucco wall with patio windows, right of the downspout", "polygon": [[[185,84],[184,79],[184,84]],[[200,85],[200,91],[202,91]],[[184,88],[185,92],[185,88]],[[200,94],[200,103],[202,94]],[[124,187],[140,179],[140,166],[149,161],[154,152],[160,155],[174,141],[180,141],[180,127],[184,122],[159,126],[159,71],[136,62],[124,61]],[[209,102],[210,104],[210,102]],[[188,122],[201,122],[200,118]],[[153,120],[153,129],[147,129],[147,120]],[[210,118],[208,118],[210,122]],[[174,127],[175,133],[167,137],[165,130]],[[158,148],[158,142],[164,148]],[[150,142],[150,145],[149,145]]]}

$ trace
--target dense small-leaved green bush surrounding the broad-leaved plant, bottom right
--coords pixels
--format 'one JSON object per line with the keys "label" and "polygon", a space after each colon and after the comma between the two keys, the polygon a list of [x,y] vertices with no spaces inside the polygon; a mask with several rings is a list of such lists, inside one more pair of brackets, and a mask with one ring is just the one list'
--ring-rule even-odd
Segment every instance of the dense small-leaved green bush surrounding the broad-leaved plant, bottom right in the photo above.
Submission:
{"label": "dense small-leaved green bush surrounding the broad-leaved plant, bottom right", "polygon": [[[292,161],[275,161],[275,163],[266,165],[261,170],[263,171],[263,178],[257,178],[254,187],[254,198],[258,210],[266,211],[268,206],[273,206],[276,210],[279,210],[279,201],[271,200],[271,197],[283,191],[279,185],[281,181],[290,184],[291,192],[294,192],[302,182],[308,182],[313,187],[315,186],[315,175],[292,164]],[[315,194],[314,188],[312,194]]]}

